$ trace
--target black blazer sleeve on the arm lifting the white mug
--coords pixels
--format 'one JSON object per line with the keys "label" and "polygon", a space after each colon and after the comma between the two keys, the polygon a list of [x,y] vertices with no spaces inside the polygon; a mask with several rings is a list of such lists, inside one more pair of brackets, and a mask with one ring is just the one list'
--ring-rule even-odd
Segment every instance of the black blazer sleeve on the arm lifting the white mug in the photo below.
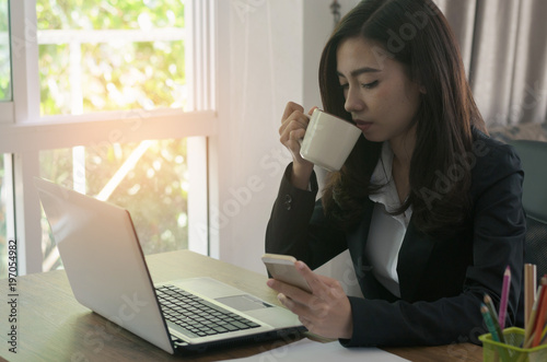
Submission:
{"label": "black blazer sleeve on the arm lifting the white mug", "polygon": [[266,253],[291,255],[315,269],[347,248],[345,234],[325,217],[315,173],[310,190],[292,186],[287,167],[266,229]]}

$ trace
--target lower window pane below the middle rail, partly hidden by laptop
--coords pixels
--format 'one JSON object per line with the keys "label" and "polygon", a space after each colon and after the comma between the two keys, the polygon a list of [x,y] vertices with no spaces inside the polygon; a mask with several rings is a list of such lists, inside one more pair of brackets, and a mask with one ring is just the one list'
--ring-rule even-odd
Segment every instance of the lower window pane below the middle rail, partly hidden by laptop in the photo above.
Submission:
{"label": "lower window pane below the middle rail, partly hidden by laptop", "polygon": [[[186,139],[42,151],[40,176],[123,207],[144,254],[188,247]],[[43,270],[61,264],[43,218]]]}

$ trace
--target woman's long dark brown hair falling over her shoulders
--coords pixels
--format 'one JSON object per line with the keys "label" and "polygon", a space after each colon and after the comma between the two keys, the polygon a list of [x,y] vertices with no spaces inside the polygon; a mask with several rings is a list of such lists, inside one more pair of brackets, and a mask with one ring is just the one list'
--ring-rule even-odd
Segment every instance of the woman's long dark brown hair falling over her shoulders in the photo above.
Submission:
{"label": "woman's long dark brown hair falling over her shoulders", "polygon": [[[411,206],[412,223],[423,233],[457,229],[470,208],[470,168],[461,160],[472,151],[472,126],[486,129],[446,19],[431,0],[363,0],[340,21],[323,50],[319,87],[325,110],[348,120],[336,52],[342,40],[354,37],[379,44],[377,57],[405,65],[426,90],[414,120],[410,194],[396,213]],[[382,186],[370,183],[381,148],[361,136],[342,168],[329,174],[322,202],[342,229],[361,221],[369,195]],[[439,189],[440,179],[450,183]]]}

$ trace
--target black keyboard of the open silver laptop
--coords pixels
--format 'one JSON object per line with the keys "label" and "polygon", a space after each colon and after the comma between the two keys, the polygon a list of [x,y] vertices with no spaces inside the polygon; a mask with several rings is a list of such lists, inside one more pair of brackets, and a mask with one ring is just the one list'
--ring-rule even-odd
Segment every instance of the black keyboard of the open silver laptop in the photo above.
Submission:
{"label": "black keyboard of the open silver laptop", "polygon": [[155,288],[165,319],[190,338],[257,328],[260,325],[174,285]]}

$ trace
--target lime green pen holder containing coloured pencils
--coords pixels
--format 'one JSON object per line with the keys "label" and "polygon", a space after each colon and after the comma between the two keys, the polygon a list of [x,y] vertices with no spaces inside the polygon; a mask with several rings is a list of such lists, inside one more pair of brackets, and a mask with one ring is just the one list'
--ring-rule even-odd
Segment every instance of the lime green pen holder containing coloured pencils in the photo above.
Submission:
{"label": "lime green pen holder containing coloured pencils", "polygon": [[534,348],[522,348],[524,329],[511,327],[503,329],[507,343],[492,340],[492,335],[479,336],[482,342],[484,362],[545,362],[547,361],[547,345]]}

